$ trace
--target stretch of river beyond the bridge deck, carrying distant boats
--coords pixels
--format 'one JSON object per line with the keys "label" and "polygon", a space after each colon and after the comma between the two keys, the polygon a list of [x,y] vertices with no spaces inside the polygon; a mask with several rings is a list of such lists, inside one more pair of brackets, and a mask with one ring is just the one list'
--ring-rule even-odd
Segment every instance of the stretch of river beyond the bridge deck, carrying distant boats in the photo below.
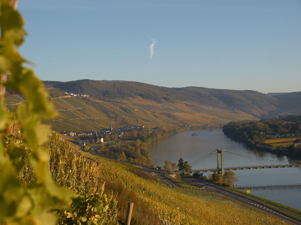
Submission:
{"label": "stretch of river beyond the bridge deck, carrying distant boats", "polygon": [[[197,136],[191,136],[192,133],[196,133]],[[164,165],[165,160],[177,162],[181,157],[191,163],[217,148],[225,149],[234,154],[247,156],[243,157],[225,152],[225,167],[278,165],[288,164],[287,162],[282,163],[278,161],[297,160],[296,158],[250,149],[243,143],[235,142],[226,137],[222,129],[214,131],[186,131],[159,140],[151,146],[151,158],[154,159],[155,165]],[[194,165],[193,168],[216,168],[216,161],[216,156],[212,156],[206,161]]]}

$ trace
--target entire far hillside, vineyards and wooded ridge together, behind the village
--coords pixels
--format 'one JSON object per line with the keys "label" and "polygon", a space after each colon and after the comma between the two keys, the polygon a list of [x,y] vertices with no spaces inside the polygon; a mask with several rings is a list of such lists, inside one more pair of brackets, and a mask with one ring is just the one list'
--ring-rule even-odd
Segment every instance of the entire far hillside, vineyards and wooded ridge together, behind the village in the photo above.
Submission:
{"label": "entire far hillside, vineyards and wooded ridge together, behind the village", "polygon": [[[77,80],[44,81],[58,112],[47,121],[54,131],[100,130],[125,125],[151,127],[194,125],[221,127],[231,121],[301,111],[300,93],[270,96],[258,91],[202,87],[166,88],[140,82]],[[86,96],[70,96],[74,93]],[[297,99],[297,100],[296,100]],[[12,110],[26,101],[6,93]]]}

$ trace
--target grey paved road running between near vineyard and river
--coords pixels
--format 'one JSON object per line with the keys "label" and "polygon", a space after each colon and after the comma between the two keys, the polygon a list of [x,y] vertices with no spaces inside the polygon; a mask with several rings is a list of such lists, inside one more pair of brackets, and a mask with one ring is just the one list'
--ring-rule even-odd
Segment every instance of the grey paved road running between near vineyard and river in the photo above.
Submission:
{"label": "grey paved road running between near vineyard and river", "polygon": [[[100,157],[103,158],[107,158],[110,160],[115,160],[115,161],[121,161],[121,162],[125,162],[128,164],[132,164],[135,166],[138,166],[139,170],[143,170],[143,171],[147,171],[147,172],[154,172],[156,175],[156,177],[158,177],[160,180],[162,180],[165,184],[169,185],[169,186],[175,186],[175,187],[182,187],[181,185],[179,185],[177,182],[175,182],[174,179],[169,178],[167,176],[165,176],[165,173],[163,170],[156,170],[154,168],[151,167],[146,167],[146,166],[141,166],[135,163],[131,163],[128,161],[123,161],[123,160],[118,160],[106,155],[103,155],[101,153],[98,152],[98,147],[92,147],[90,149],[91,153],[94,155],[98,155]],[[206,191],[210,191],[216,194],[220,194],[222,196],[225,196],[231,200],[240,202],[244,205],[247,205],[251,208],[255,208],[259,211],[265,212],[267,214],[270,214],[272,216],[275,216],[283,221],[286,221],[288,223],[294,224],[294,225],[301,225],[301,220],[300,219],[296,219],[295,217],[290,216],[289,214],[286,214],[282,211],[280,211],[277,207],[273,207],[271,205],[267,205],[265,204],[265,202],[259,200],[259,199],[255,199],[251,196],[246,196],[242,193],[239,192],[235,192],[229,189],[226,189],[224,187],[215,185],[209,181],[203,180],[203,179],[198,179],[198,178],[194,178],[194,177],[188,177],[188,176],[181,176],[183,181],[189,182],[194,184],[195,186],[198,187],[205,187]]]}

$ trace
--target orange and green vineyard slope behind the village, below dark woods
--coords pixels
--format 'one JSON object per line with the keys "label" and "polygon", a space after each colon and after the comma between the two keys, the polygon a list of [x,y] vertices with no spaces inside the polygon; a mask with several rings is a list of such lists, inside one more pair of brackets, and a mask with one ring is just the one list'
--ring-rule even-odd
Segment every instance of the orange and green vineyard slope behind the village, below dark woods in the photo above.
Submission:
{"label": "orange and green vineyard slope behind the village, below dark woods", "polygon": [[[58,116],[47,123],[54,131],[100,130],[125,125],[156,127],[191,124],[219,127],[230,121],[254,119],[253,116],[229,107],[212,107],[192,101],[162,100],[156,102],[140,96],[101,101],[94,97],[70,97],[57,88],[45,88]],[[19,95],[7,95],[8,108],[24,101]],[[204,124],[203,124],[204,123]],[[209,127],[209,126],[208,126]]]}

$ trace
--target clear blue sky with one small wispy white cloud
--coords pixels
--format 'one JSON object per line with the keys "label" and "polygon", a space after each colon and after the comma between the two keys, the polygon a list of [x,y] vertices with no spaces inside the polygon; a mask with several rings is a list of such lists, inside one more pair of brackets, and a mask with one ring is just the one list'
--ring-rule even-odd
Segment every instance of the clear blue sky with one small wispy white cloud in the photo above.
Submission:
{"label": "clear blue sky with one small wispy white cloud", "polygon": [[42,80],[301,91],[301,0],[20,0]]}

